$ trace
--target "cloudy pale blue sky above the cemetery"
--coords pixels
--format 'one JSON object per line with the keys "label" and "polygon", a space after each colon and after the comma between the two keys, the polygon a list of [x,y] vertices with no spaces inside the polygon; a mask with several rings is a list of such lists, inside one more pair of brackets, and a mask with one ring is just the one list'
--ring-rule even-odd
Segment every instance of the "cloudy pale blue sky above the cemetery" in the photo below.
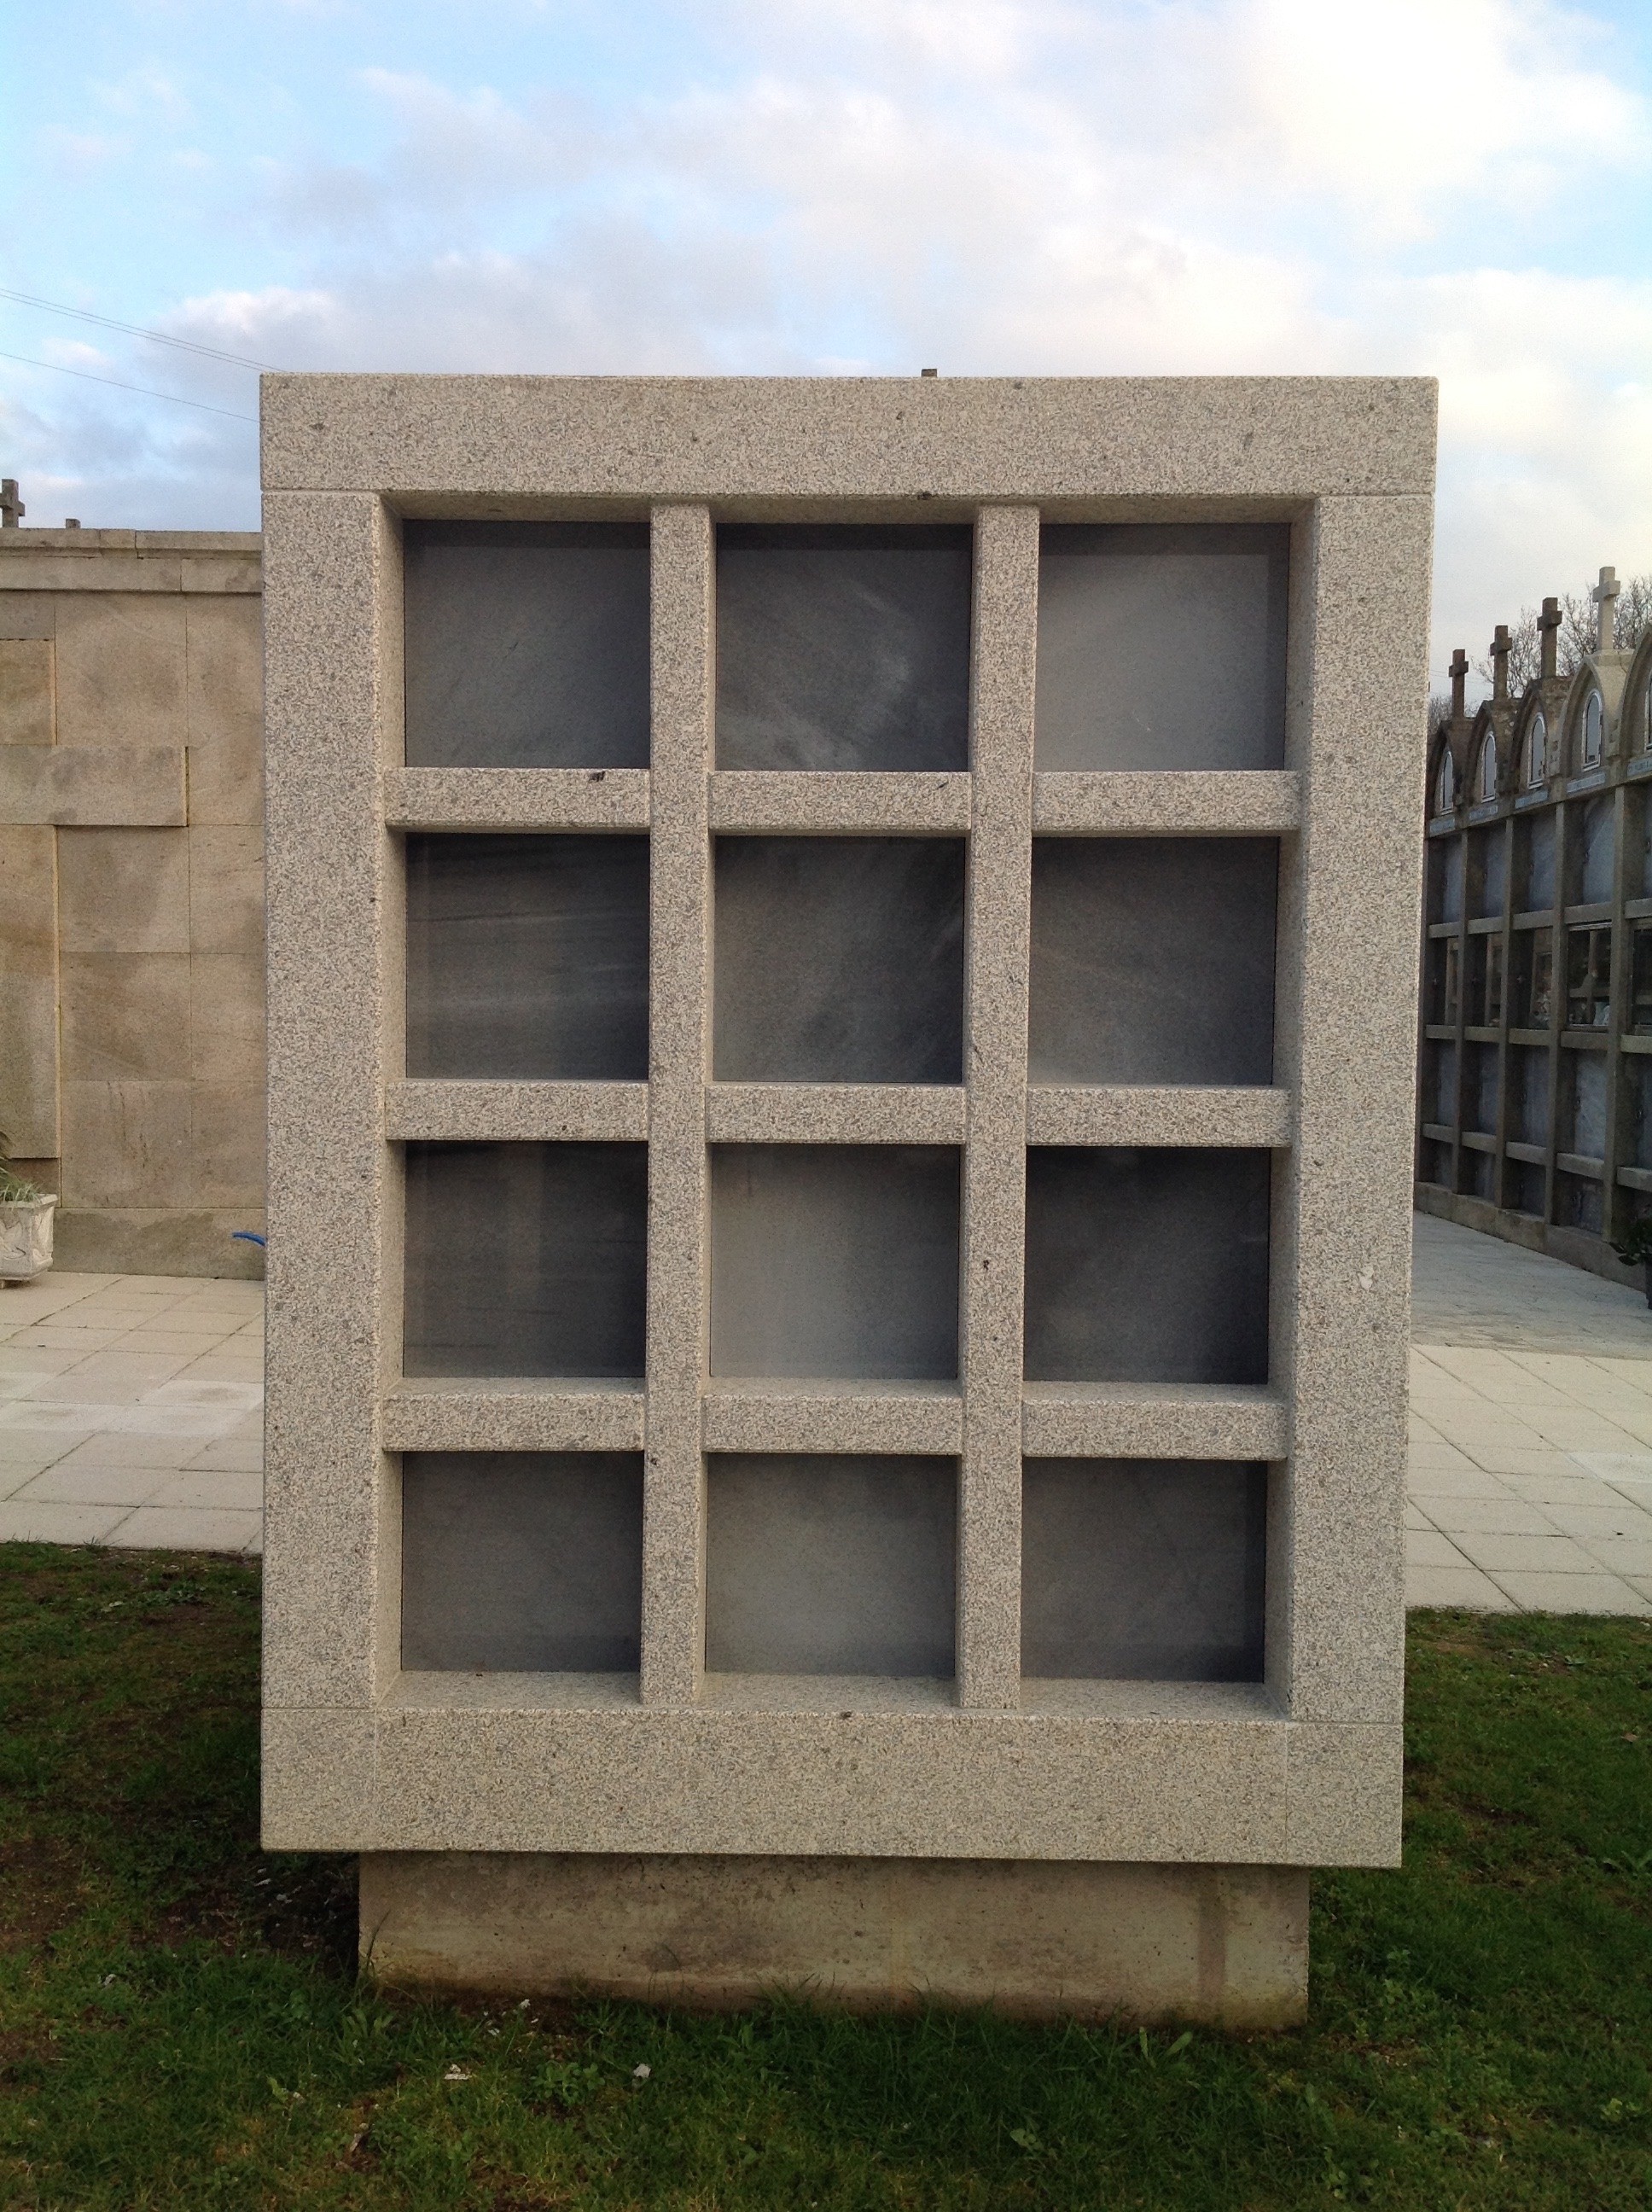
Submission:
{"label": "cloudy pale blue sky above the cemetery", "polygon": [[[1648,0],[7,15],[11,294],[316,369],[1426,372],[1437,666],[1652,568]],[[252,369],[0,356],[31,522],[257,526]]]}

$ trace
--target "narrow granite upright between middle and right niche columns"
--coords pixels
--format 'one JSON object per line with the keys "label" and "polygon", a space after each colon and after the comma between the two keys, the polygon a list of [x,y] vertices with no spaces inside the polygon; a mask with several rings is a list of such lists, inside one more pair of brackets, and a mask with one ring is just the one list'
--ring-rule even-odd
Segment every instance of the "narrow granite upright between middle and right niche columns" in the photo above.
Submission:
{"label": "narrow granite upright between middle and right niche columns", "polygon": [[958,1703],[1011,1710],[1022,1679],[1022,1274],[1033,936],[1035,507],[975,515],[958,1498]]}

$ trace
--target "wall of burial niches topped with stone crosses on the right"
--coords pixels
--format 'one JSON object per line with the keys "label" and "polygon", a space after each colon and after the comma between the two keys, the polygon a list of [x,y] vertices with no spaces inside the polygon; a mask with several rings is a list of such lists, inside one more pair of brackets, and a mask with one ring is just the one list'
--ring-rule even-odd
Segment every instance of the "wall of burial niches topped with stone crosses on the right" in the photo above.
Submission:
{"label": "wall of burial niches topped with stone crosses on the right", "polygon": [[1418,1186],[1424,1212],[1639,1283],[1652,1208],[1652,633],[1453,712],[1429,752]]}

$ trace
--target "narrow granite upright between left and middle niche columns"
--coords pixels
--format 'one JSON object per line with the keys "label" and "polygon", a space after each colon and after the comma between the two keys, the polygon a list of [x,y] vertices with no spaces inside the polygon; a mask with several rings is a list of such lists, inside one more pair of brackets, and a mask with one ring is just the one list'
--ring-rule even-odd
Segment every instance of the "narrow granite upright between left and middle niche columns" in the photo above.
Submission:
{"label": "narrow granite upright between left and middle niche columns", "polygon": [[652,513],[652,761],[648,958],[648,1402],[641,1701],[686,1705],[705,1650],[708,1221],[712,847],[712,518]]}

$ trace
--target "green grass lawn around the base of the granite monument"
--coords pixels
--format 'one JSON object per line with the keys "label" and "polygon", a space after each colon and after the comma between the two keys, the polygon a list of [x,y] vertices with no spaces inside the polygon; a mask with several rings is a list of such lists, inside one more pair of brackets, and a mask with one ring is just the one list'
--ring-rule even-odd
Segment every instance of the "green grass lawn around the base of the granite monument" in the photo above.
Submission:
{"label": "green grass lawn around the base of the granite monument", "polygon": [[1221,2037],[360,1986],[349,1867],[254,1840],[257,1606],[0,1548],[4,2212],[1652,2205],[1652,1626],[1413,1617],[1404,1871]]}

